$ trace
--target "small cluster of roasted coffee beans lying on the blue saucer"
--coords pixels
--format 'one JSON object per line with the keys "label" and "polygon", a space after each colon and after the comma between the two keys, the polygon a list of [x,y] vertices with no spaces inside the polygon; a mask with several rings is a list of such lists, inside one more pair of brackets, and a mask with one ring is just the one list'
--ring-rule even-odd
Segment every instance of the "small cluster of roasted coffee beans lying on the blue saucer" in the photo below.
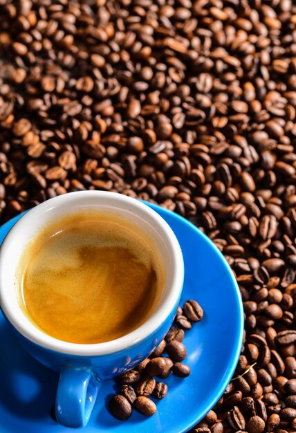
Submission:
{"label": "small cluster of roasted coffee beans lying on the blue saucer", "polygon": [[185,331],[192,328],[192,324],[203,318],[203,308],[194,300],[188,300],[178,306],[174,324],[169,329],[165,339],[158,344],[149,358],[145,359],[133,370],[119,376],[122,385],[121,394],[116,394],[110,401],[110,412],[122,421],[130,416],[133,407],[146,416],[154,415],[156,404],[149,397],[162,400],[167,395],[167,385],[156,382],[156,378],[168,378],[171,372],[180,378],[187,378],[190,368],[184,364],[187,351],[183,344]]}

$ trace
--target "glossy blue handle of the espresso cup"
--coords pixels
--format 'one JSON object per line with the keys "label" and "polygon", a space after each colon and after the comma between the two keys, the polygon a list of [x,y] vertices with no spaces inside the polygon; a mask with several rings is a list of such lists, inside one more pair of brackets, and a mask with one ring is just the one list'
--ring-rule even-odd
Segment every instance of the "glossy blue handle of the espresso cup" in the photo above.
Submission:
{"label": "glossy blue handle of the espresso cup", "polygon": [[55,416],[66,427],[84,427],[95,405],[100,383],[91,369],[63,367],[57,385]]}

